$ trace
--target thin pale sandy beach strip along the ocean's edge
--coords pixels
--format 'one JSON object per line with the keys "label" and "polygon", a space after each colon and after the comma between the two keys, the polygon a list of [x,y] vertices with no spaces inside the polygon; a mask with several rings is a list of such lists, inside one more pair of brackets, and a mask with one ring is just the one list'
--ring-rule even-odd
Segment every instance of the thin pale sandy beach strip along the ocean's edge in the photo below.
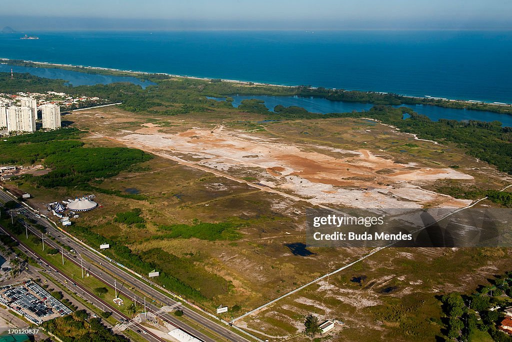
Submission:
{"label": "thin pale sandy beach strip along the ocean's edge", "polygon": [[[88,70],[97,70],[97,71],[111,71],[111,72],[122,72],[122,73],[130,73],[135,75],[165,75],[170,77],[176,77],[176,78],[187,78],[187,79],[199,79],[201,81],[211,81],[212,77],[199,77],[199,76],[185,76],[185,75],[176,75],[176,74],[169,74],[165,72],[146,72],[146,71],[136,71],[136,70],[122,70],[122,69],[115,69],[115,68],[103,68],[103,67],[92,67],[92,66],[82,66],[82,65],[72,65],[72,64],[59,64],[59,63],[49,63],[49,62],[37,62],[37,61],[27,61],[25,59],[12,59],[12,58],[3,58],[0,57],[0,61],[2,62],[11,62],[11,61],[22,61],[24,63],[31,63],[40,65],[42,67],[45,66],[53,66],[53,67],[65,67],[65,68],[73,68],[78,69],[75,70],[77,72],[80,72],[80,69],[88,69]],[[8,64],[8,63],[6,63]],[[134,76],[136,77],[136,76]],[[251,82],[251,81],[240,81],[238,79],[225,79],[220,78],[222,82],[229,82],[234,84],[242,84],[242,85],[256,85],[256,86],[267,86],[267,87],[282,87],[282,88],[297,88],[300,87],[300,85],[294,85],[294,86],[287,86],[287,85],[280,85],[280,84],[270,84],[270,83],[261,83],[261,82]],[[321,87],[310,87],[310,89],[318,89]],[[324,87],[322,87],[324,88]],[[341,90],[337,88],[325,88],[328,90]],[[396,93],[389,93],[389,92],[381,92],[381,91],[369,91],[369,90],[356,90],[356,89],[343,89],[344,91],[359,91],[363,93],[372,93],[372,94],[393,94],[396,96],[406,97],[406,98],[415,98],[415,99],[422,99],[422,100],[442,100],[445,102],[452,102],[452,103],[462,103],[462,104],[485,104],[490,106],[498,106],[498,107],[512,107],[512,103],[502,103],[502,102],[485,102],[481,100],[464,100],[464,99],[452,99],[447,97],[438,97],[438,96],[410,96],[410,95],[402,95],[402,94],[396,94]],[[432,104],[426,104],[426,105],[432,105]],[[435,105],[433,105],[435,106]]]}

